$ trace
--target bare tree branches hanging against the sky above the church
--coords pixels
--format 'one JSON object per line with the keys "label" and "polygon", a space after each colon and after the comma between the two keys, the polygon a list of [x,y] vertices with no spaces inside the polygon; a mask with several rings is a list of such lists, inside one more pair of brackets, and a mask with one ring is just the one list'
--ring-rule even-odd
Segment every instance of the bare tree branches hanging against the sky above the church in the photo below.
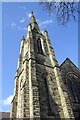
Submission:
{"label": "bare tree branches hanging against the sky above the church", "polygon": [[67,24],[71,18],[76,20],[76,13],[80,13],[77,2],[55,2],[54,0],[48,2],[42,0],[40,4],[50,15],[56,15],[56,20],[60,25]]}

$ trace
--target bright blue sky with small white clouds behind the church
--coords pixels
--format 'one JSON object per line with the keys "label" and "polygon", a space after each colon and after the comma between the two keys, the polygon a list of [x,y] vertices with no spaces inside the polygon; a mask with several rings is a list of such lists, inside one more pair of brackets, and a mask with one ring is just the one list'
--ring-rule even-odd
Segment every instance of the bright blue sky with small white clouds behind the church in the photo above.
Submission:
{"label": "bright blue sky with small white clouds behind the church", "polygon": [[[67,57],[78,65],[78,23],[73,20],[67,27],[59,26],[55,16],[48,16],[38,3],[3,3],[2,8],[2,111],[10,111],[14,76],[17,68],[20,42],[26,37],[30,13],[34,11],[41,32],[47,29],[56,58],[61,64]],[[1,111],[1,108],[0,108]]]}

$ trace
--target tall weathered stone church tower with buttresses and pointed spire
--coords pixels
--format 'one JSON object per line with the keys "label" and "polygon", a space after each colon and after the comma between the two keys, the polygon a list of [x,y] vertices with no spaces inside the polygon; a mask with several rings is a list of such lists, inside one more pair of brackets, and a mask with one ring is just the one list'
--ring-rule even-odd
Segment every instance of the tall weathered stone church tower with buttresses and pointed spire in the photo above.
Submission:
{"label": "tall weathered stone church tower with buttresses and pointed spire", "polygon": [[22,37],[11,118],[74,118],[48,32],[32,12]]}

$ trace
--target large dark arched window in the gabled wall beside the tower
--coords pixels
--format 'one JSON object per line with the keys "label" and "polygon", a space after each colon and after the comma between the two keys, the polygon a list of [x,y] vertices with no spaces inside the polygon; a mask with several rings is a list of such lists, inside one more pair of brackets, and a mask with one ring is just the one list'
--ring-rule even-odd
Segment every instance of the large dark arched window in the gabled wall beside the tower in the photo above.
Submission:
{"label": "large dark arched window in the gabled wall beside the tower", "polygon": [[69,87],[72,102],[80,102],[80,81],[74,73],[67,74],[67,85]]}

